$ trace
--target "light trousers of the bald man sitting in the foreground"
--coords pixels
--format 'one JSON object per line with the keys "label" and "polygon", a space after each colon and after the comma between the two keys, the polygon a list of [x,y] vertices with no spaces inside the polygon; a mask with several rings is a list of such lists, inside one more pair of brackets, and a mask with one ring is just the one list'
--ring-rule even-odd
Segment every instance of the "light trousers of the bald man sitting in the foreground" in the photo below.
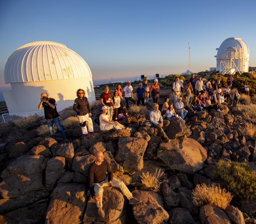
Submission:
{"label": "light trousers of the bald man sitting in the foreground", "polygon": [[[93,183],[94,195],[99,196],[101,198],[99,201],[96,201],[97,208],[102,208],[102,197],[103,197],[103,191],[104,191],[103,188],[107,186],[109,186],[108,177],[100,183]],[[120,188],[120,190],[126,196],[126,198],[128,198],[128,200],[130,200],[133,197],[132,193],[123,183],[123,181],[113,177],[112,186],[116,188]]]}

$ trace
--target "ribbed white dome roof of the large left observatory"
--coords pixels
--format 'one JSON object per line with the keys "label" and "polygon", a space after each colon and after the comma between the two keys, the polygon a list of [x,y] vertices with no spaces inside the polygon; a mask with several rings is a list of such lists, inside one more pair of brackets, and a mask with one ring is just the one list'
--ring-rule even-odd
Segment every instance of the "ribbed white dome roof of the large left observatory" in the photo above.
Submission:
{"label": "ribbed white dome roof of the large left observatory", "polygon": [[85,60],[64,44],[50,41],[19,47],[5,65],[5,83],[85,77],[92,77]]}

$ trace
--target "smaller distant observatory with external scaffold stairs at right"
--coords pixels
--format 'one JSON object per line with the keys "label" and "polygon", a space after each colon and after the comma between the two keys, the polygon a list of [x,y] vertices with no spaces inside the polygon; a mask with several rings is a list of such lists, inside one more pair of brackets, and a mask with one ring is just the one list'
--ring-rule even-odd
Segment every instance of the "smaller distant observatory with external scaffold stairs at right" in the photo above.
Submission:
{"label": "smaller distant observatory with external scaffold stairs at right", "polygon": [[222,42],[216,57],[217,71],[221,74],[248,72],[249,48],[241,38],[230,37]]}

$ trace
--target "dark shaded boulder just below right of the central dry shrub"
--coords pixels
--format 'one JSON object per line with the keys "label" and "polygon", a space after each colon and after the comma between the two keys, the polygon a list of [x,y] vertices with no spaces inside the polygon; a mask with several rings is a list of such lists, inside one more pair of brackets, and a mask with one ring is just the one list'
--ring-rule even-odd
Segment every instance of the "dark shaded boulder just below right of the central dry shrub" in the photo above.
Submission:
{"label": "dark shaded boulder just below right of the central dry shrub", "polygon": [[167,183],[163,183],[162,193],[165,201],[165,208],[170,209],[171,207],[179,205],[179,194],[171,190]]}

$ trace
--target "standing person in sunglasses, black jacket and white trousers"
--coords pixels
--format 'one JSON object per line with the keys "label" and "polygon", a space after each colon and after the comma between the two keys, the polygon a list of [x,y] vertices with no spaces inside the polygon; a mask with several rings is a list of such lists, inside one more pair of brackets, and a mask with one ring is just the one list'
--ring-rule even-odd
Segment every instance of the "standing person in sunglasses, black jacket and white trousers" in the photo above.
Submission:
{"label": "standing person in sunglasses, black jacket and white trousers", "polygon": [[[83,89],[77,89],[77,99],[75,99],[73,109],[77,112],[83,135],[89,136],[90,134],[94,134],[93,121],[91,120],[91,108]],[[86,123],[88,125],[88,131]]]}

